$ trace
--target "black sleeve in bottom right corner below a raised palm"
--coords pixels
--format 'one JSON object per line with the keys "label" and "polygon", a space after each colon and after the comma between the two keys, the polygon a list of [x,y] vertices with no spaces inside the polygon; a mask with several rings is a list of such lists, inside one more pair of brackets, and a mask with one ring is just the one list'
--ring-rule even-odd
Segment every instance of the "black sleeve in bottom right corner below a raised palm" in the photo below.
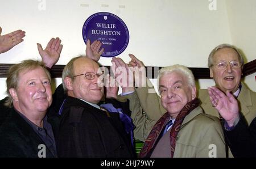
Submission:
{"label": "black sleeve in bottom right corner below a raised palm", "polygon": [[256,157],[256,117],[248,127],[241,116],[235,128],[224,129],[224,134],[234,157]]}

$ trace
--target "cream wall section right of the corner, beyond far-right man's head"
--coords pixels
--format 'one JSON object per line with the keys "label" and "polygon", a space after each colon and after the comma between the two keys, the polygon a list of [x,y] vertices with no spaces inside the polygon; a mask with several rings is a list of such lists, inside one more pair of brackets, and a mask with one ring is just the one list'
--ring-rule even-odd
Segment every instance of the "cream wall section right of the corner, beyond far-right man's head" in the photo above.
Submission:
{"label": "cream wall section right of the corner, beyond far-right man's head", "polygon": [[[227,0],[228,20],[232,43],[242,50],[246,62],[256,59],[256,1]],[[243,81],[256,91],[256,73]]]}

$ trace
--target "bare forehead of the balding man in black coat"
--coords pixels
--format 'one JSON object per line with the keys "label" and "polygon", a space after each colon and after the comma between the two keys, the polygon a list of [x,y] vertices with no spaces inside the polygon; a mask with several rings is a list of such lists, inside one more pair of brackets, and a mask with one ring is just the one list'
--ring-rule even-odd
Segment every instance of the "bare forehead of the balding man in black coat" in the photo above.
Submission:
{"label": "bare forehead of the balding man in black coat", "polygon": [[99,67],[97,62],[88,58],[79,58],[73,63],[74,73],[86,73],[89,71],[97,73]]}

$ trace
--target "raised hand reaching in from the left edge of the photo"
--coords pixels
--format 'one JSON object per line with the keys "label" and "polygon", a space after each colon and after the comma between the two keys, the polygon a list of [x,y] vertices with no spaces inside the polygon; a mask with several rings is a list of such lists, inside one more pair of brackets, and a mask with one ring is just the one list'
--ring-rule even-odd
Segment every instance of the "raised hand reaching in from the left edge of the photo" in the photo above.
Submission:
{"label": "raised hand reaching in from the left edge of the photo", "polygon": [[15,45],[18,45],[23,41],[23,37],[25,36],[24,31],[17,30],[11,33],[7,33],[6,35],[1,35],[2,28],[0,27],[0,53],[7,52]]}

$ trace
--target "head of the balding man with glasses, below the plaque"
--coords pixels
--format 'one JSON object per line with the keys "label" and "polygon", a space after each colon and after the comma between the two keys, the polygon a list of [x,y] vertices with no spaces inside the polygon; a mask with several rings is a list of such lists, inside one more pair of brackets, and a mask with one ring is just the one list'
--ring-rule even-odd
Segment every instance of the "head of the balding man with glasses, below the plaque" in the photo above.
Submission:
{"label": "head of the balding man with glasses, below the plaque", "polygon": [[100,102],[104,88],[98,84],[99,68],[97,62],[82,56],[69,61],[63,70],[63,86],[67,94],[90,103]]}

